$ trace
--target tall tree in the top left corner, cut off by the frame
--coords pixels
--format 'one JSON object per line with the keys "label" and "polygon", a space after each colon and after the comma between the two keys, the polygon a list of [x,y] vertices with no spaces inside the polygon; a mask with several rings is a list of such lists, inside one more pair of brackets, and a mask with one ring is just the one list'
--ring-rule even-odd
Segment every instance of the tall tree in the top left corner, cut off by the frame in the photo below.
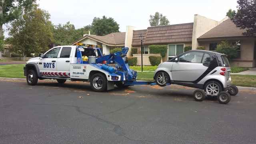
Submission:
{"label": "tall tree in the top left corner, cut off by the frame", "polygon": [[0,0],[0,38],[3,38],[3,25],[18,18],[22,10],[30,8],[34,2],[36,0]]}

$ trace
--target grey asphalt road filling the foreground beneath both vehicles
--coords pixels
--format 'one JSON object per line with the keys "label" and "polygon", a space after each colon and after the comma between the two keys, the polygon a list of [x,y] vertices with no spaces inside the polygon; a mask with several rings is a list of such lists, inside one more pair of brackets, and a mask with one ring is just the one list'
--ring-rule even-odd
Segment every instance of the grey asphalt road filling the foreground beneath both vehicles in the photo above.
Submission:
{"label": "grey asphalt road filling the foreground beneath both vehicles", "polygon": [[229,104],[196,102],[192,88],[0,80],[0,144],[255,144],[256,90]]}

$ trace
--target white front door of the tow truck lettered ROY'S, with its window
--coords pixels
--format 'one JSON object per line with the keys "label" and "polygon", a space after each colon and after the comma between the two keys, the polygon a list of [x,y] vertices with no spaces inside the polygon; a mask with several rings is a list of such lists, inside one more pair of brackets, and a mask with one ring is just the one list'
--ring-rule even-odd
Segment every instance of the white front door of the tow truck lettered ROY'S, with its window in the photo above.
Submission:
{"label": "white front door of the tow truck lettered ROY'S, with its window", "polygon": [[52,48],[44,54],[44,58],[41,58],[38,62],[38,68],[42,76],[54,76],[57,72],[57,57],[60,51],[60,47]]}

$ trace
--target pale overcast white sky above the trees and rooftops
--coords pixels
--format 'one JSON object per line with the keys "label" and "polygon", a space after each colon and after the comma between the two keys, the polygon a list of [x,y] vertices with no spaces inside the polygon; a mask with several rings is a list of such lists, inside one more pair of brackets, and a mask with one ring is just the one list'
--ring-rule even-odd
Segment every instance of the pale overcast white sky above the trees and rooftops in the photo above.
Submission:
{"label": "pale overcast white sky above the trees and rooftops", "polygon": [[[47,10],[53,24],[70,21],[76,28],[92,23],[94,17],[112,17],[119,31],[126,26],[136,30],[150,26],[149,16],[160,12],[170,24],[193,22],[194,14],[220,21],[231,8],[236,10],[236,0],[37,0],[39,7]],[[5,27],[4,27],[5,28]],[[8,36],[8,32],[5,32]]]}

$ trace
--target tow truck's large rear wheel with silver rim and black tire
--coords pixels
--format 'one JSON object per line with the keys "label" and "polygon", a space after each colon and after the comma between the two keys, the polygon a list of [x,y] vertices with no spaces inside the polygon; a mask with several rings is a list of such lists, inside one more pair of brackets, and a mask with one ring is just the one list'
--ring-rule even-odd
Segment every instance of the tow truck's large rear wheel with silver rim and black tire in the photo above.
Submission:
{"label": "tow truck's large rear wheel with silver rim and black tire", "polygon": [[92,90],[96,92],[103,92],[107,89],[107,79],[101,73],[96,73],[90,78],[90,85]]}

